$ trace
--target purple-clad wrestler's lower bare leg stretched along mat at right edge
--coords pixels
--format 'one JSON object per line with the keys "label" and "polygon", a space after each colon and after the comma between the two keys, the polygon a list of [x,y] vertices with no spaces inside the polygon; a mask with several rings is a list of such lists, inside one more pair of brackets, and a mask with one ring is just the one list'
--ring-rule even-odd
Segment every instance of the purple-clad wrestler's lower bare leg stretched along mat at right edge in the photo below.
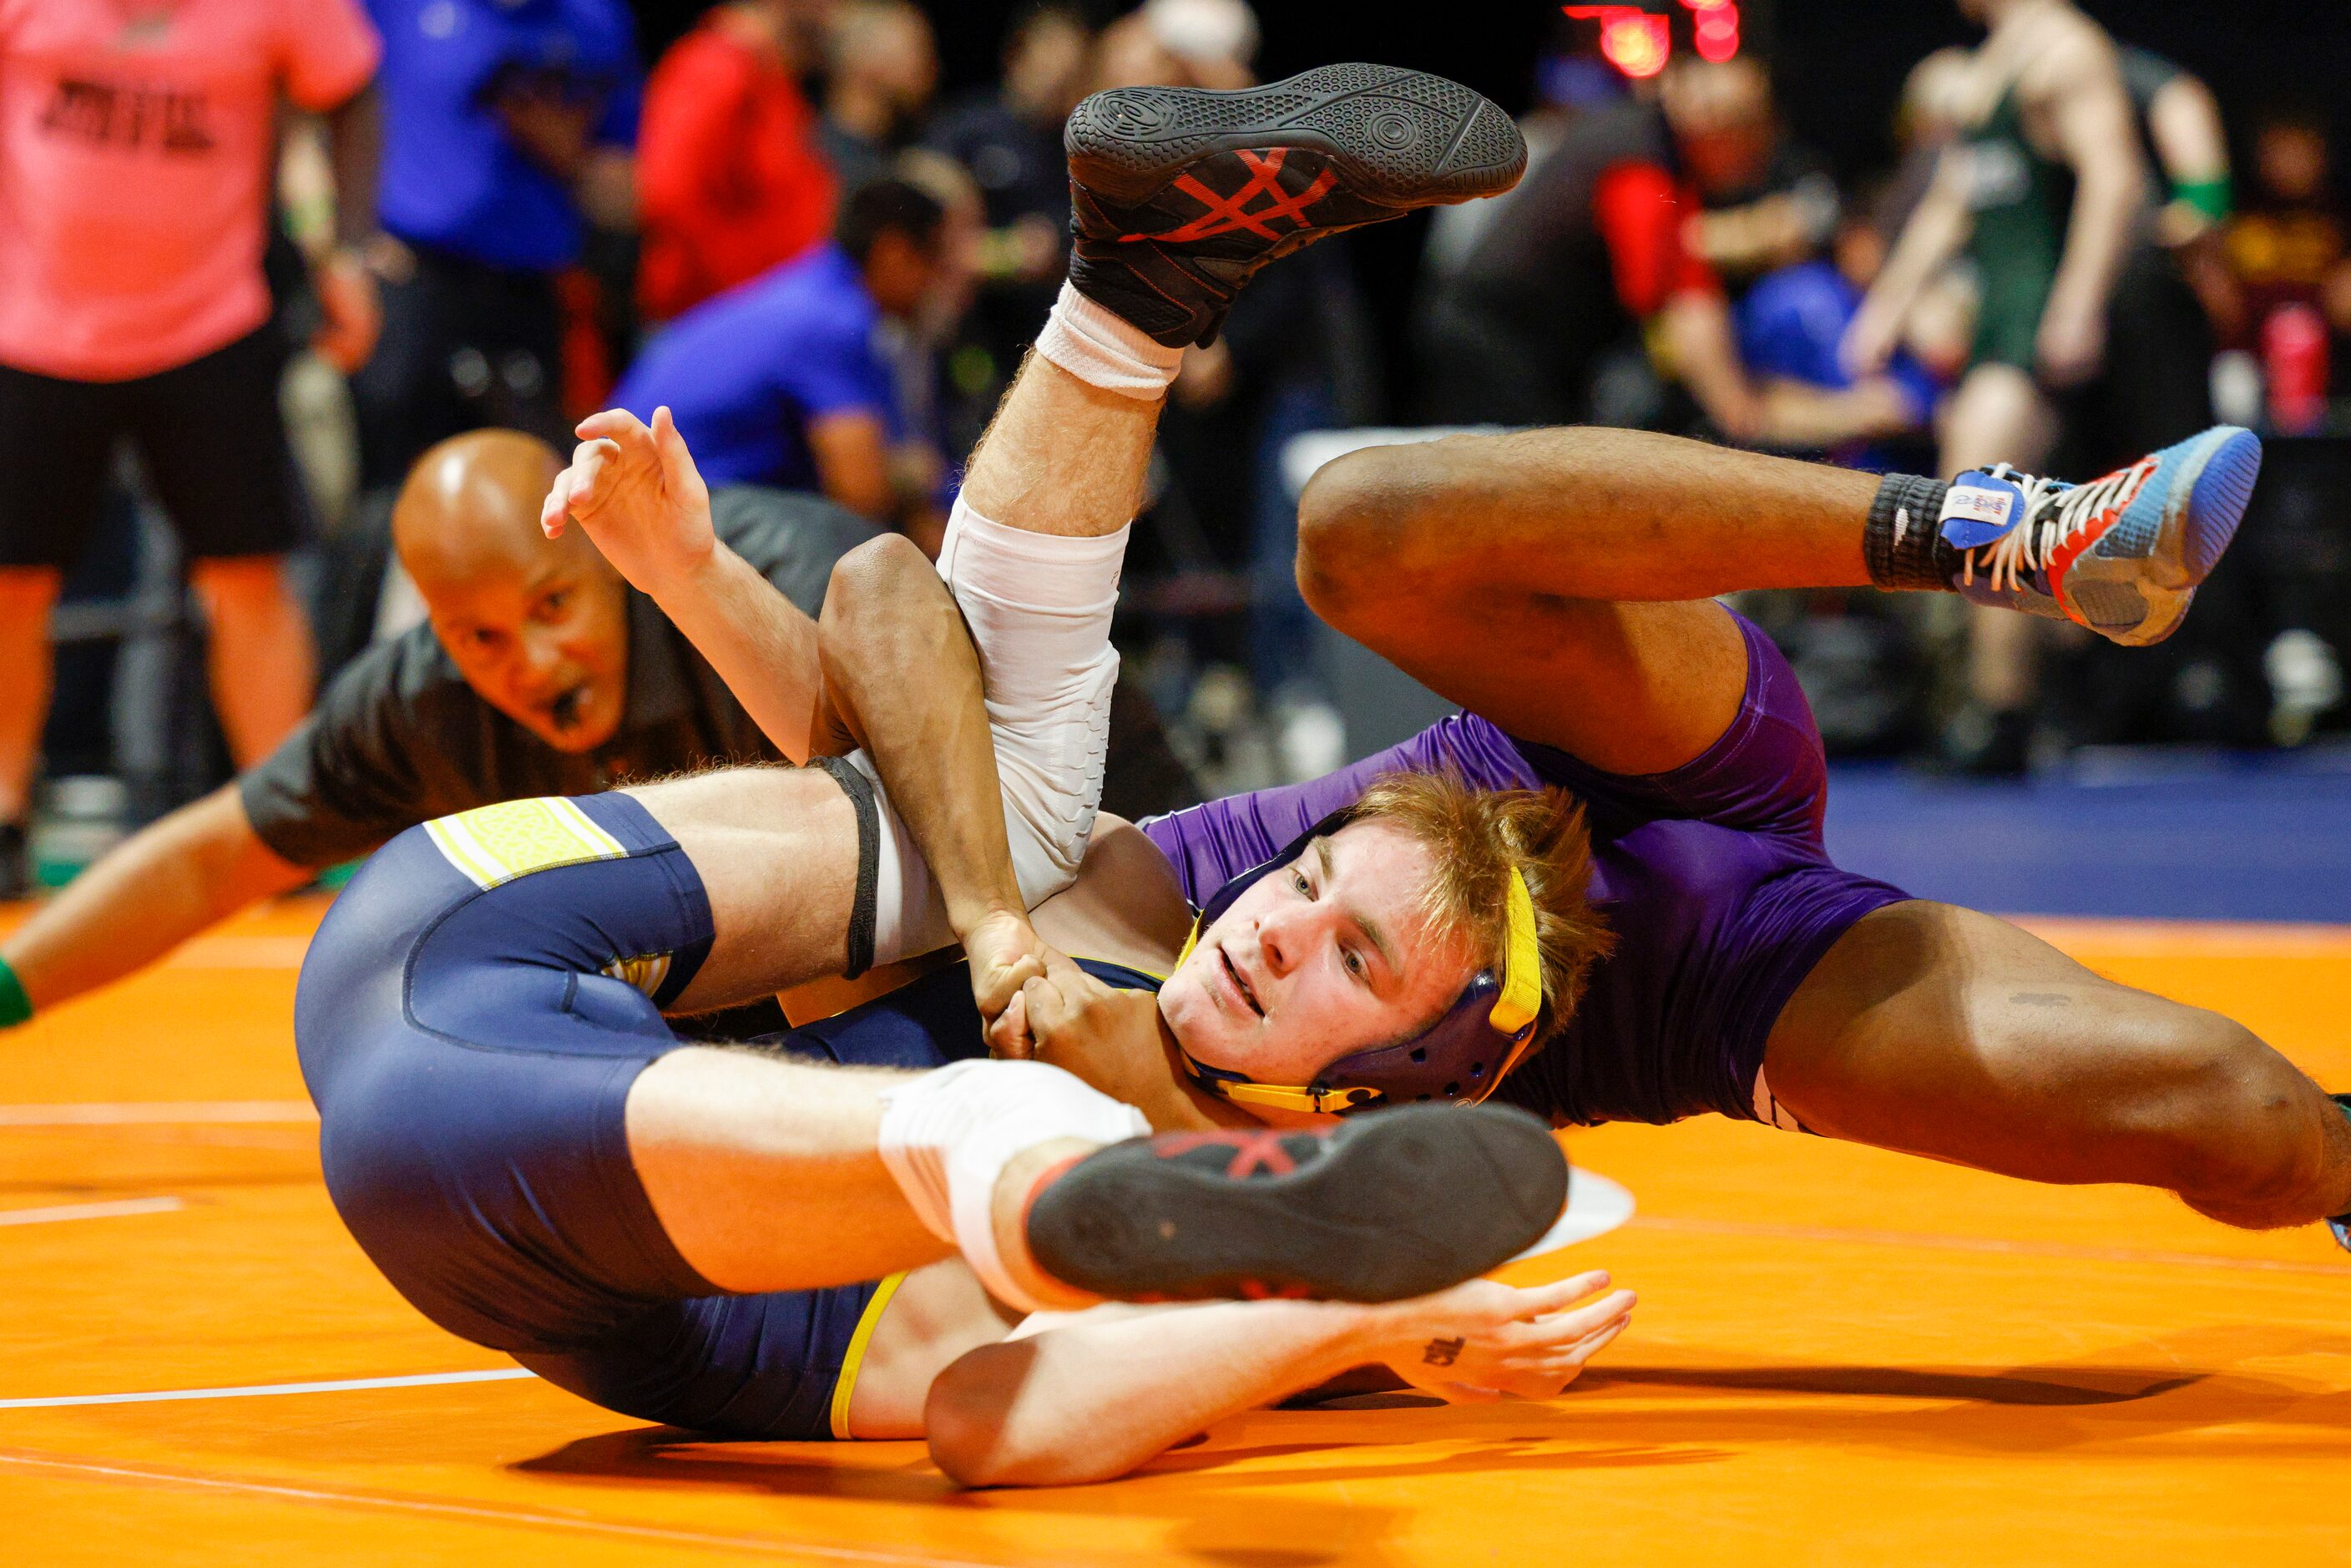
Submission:
{"label": "purple-clad wrestler's lower bare leg stretched along mat at right edge", "polygon": [[2351,1121],[2292,1063],[1972,910],[1860,919],[1780,1013],[1763,1077],[1829,1138],[2165,1187],[2255,1229],[2351,1211]]}

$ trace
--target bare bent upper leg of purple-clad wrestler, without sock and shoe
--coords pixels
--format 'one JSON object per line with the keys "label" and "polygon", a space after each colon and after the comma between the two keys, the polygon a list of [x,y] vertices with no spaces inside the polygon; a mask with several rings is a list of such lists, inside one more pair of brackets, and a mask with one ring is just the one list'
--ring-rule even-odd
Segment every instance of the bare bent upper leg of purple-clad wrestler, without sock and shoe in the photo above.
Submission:
{"label": "bare bent upper leg of purple-clad wrestler, without sock and shoe", "polygon": [[1368,447],[1298,503],[1324,621],[1446,698],[1608,773],[1662,773],[1740,710],[1709,597],[1869,581],[1876,475],[1639,430]]}

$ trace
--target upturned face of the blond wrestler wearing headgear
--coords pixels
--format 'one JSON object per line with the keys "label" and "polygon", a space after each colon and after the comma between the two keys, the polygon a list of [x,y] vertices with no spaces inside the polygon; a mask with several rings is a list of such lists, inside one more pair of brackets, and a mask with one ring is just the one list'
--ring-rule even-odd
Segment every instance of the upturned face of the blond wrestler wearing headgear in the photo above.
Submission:
{"label": "upturned face of the blond wrestler wearing headgear", "polygon": [[1425,1027],[1476,973],[1422,919],[1427,877],[1429,851],[1385,823],[1314,839],[1201,931],[1159,987],[1168,1030],[1208,1067],[1310,1084]]}

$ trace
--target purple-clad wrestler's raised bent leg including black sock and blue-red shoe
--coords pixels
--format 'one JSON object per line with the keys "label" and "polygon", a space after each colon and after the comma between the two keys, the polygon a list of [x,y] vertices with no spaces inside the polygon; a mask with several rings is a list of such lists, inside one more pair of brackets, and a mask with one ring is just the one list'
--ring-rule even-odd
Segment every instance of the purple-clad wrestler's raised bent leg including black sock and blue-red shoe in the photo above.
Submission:
{"label": "purple-clad wrestler's raised bent leg including black sock and blue-red shoe", "polygon": [[[1714,595],[1965,588],[2156,642],[2257,468],[2259,442],[2222,428],[2027,498],[1636,430],[1467,435],[1324,465],[1300,498],[1298,583],[1335,628],[1514,736],[1655,773],[1737,712],[1744,644]],[[1947,510],[1970,524],[1956,538]]]}

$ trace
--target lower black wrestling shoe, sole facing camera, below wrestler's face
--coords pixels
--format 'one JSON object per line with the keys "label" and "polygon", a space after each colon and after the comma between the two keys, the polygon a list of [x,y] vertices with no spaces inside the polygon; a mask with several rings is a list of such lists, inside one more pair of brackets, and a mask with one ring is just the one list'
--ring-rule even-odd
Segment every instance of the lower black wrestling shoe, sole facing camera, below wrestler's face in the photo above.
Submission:
{"label": "lower black wrestling shoe, sole facing camera, below wrestler's face", "polygon": [[1552,1133],[1505,1105],[1404,1105],[1335,1128],[1128,1138],[1051,1178],[1030,1255],[1110,1300],[1389,1302],[1533,1246],[1568,1201]]}

